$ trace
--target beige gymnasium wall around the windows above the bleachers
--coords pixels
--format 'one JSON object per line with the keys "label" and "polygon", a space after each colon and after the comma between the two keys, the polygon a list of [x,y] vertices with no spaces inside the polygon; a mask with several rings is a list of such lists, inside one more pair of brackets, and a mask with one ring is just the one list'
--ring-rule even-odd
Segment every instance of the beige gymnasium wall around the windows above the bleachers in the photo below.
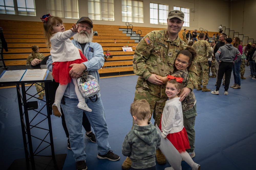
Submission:
{"label": "beige gymnasium wall around the windows above the bleachers", "polygon": [[[256,13],[256,1],[255,0],[144,0],[143,1],[143,14],[144,23],[130,23],[137,27],[154,27],[154,28],[166,28],[166,25],[150,24],[149,7],[150,2],[168,4],[169,10],[173,9],[173,6],[190,8],[190,26],[184,27],[188,30],[194,30],[203,28],[211,32],[218,32],[220,24],[235,30],[236,32],[243,33],[244,36],[249,36],[256,40],[256,33],[254,29],[256,26],[255,13]],[[44,1],[35,0],[36,4],[36,17],[32,16],[18,16],[18,15],[4,15],[0,14],[1,19],[7,20],[26,20],[26,21],[40,21],[40,17],[46,14],[46,4]],[[79,4],[79,16],[87,16],[87,0],[78,0]],[[194,10],[191,10],[194,9]],[[243,12],[244,10],[244,12]],[[121,0],[114,0],[114,18],[115,21],[99,21],[93,20],[94,24],[105,25],[125,25],[122,22],[122,8]],[[77,19],[64,18],[65,23],[76,23]],[[184,29],[183,28],[183,29]]]}

